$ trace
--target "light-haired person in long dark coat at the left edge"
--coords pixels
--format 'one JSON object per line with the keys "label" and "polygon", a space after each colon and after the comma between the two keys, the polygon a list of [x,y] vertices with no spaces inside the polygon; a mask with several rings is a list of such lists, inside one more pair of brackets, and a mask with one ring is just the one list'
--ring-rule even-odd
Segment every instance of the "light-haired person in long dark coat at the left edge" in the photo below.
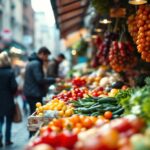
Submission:
{"label": "light-haired person in long dark coat at the left edge", "polygon": [[6,118],[5,144],[11,145],[11,126],[15,110],[14,95],[17,91],[15,74],[10,66],[10,58],[6,52],[0,53],[0,147],[2,143],[2,127]]}

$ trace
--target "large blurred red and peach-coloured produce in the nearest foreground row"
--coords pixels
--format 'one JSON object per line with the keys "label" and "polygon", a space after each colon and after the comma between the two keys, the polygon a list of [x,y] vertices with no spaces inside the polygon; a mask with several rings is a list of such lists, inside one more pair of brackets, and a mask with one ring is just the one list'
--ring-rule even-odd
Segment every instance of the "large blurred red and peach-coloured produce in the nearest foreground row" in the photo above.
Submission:
{"label": "large blurred red and peach-coloured produce in the nearest foreground row", "polygon": [[[91,122],[93,122],[89,120],[95,120],[86,117],[85,119],[81,118],[80,121],[78,119],[75,118],[74,121],[82,122],[82,127],[88,125],[88,129]],[[69,118],[68,121],[70,121]],[[99,125],[96,124],[95,127],[89,130],[84,129],[79,134],[75,133],[74,130],[55,131],[49,126],[43,127],[39,137],[29,143],[27,150],[33,150],[35,146],[40,144],[46,144],[55,150],[59,148],[65,150],[122,150],[127,147],[129,150],[132,150],[132,144],[135,145],[136,143],[136,138],[133,136],[135,134],[139,135],[140,131],[145,127],[144,121],[135,116],[114,119],[112,121],[100,119],[100,121]],[[72,122],[73,120],[70,123]],[[60,123],[57,122],[57,126],[58,124]],[[140,136],[148,139],[149,132],[147,131],[144,135],[140,134]]]}

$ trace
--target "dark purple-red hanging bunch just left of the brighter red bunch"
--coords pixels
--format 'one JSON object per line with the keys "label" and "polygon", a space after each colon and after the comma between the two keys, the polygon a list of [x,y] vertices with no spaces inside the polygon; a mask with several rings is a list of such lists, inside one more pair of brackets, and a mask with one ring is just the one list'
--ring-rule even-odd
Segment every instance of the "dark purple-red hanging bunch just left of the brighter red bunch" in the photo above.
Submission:
{"label": "dark purple-red hanging bunch just left of the brighter red bunch", "polygon": [[116,33],[107,32],[104,35],[104,40],[102,44],[100,45],[97,57],[99,58],[99,64],[109,64],[109,49],[111,46],[112,41],[116,40],[118,38],[118,35]]}

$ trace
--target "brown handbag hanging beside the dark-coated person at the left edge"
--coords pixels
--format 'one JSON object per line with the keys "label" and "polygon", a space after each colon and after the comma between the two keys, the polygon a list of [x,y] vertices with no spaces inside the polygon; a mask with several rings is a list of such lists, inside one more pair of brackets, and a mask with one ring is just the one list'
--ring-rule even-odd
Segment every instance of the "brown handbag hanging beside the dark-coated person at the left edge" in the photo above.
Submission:
{"label": "brown handbag hanging beside the dark-coated person at the left edge", "polygon": [[13,115],[13,122],[14,123],[20,123],[21,121],[22,121],[21,110],[20,110],[19,104],[16,102],[15,103],[14,115]]}

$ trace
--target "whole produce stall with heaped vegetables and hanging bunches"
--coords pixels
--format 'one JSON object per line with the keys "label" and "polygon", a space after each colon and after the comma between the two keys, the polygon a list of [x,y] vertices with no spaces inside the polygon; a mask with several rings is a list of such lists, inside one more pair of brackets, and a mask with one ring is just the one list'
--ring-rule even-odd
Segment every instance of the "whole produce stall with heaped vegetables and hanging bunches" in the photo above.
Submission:
{"label": "whole produce stall with heaped vegetables and hanging bunches", "polygon": [[45,104],[36,104],[28,126],[37,133],[27,150],[150,149],[150,5],[92,4],[111,19],[100,20],[107,29],[90,41],[92,66],[74,69],[50,88]]}

